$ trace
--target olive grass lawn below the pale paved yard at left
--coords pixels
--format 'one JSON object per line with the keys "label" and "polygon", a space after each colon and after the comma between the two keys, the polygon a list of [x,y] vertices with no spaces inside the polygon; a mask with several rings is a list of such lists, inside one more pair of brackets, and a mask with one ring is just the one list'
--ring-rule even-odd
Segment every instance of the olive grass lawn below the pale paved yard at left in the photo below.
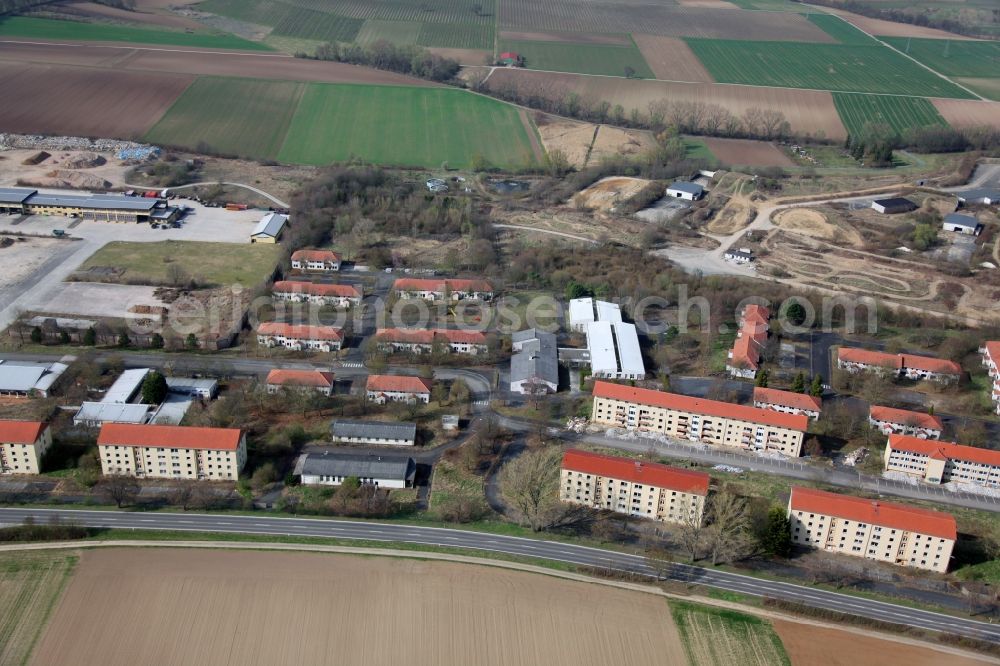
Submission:
{"label": "olive grass lawn below the pale paved yard at left", "polygon": [[[247,230],[250,233],[250,230]],[[123,280],[141,284],[169,284],[168,268],[180,266],[203,285],[256,285],[278,264],[279,245],[160,241],[157,243],[108,243],[83,267],[114,266],[125,269]]]}

